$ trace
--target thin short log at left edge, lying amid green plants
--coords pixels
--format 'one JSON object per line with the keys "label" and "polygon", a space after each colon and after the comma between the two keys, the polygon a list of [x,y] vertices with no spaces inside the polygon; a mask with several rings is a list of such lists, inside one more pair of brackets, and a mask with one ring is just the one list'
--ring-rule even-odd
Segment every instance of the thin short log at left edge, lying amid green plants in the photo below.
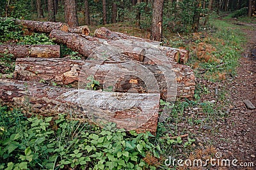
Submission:
{"label": "thin short log at left edge, lying amid green plants", "polygon": [[0,45],[0,53],[17,57],[60,58],[60,45]]}

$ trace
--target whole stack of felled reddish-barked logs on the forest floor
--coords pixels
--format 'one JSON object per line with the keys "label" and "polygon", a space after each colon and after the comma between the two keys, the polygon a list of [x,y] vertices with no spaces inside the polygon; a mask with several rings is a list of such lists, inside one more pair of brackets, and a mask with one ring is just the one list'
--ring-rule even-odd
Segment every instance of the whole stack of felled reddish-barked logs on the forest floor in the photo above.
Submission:
{"label": "whole stack of felled reddish-barked logs on the forest floor", "polygon": [[[86,59],[60,59],[59,45],[0,45],[0,53],[16,59],[14,78],[0,81],[1,104],[21,107],[28,115],[72,113],[97,124],[110,121],[127,131],[154,134],[159,99],[194,96],[195,76],[184,65],[186,50],[104,27],[90,36],[87,26],[15,21],[30,31],[49,33]],[[96,90],[85,90],[88,86]]]}

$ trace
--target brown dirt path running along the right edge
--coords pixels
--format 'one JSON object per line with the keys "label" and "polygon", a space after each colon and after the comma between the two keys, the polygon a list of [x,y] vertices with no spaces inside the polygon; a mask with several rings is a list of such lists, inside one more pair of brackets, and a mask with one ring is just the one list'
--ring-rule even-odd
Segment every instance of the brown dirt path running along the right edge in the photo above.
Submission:
{"label": "brown dirt path running along the right edge", "polygon": [[225,86],[230,92],[232,109],[220,129],[223,141],[216,146],[228,159],[253,162],[254,167],[228,167],[228,169],[256,169],[256,110],[243,103],[248,99],[256,106],[256,31],[244,30],[250,39],[248,50],[239,60],[237,76]]}

